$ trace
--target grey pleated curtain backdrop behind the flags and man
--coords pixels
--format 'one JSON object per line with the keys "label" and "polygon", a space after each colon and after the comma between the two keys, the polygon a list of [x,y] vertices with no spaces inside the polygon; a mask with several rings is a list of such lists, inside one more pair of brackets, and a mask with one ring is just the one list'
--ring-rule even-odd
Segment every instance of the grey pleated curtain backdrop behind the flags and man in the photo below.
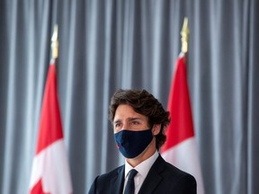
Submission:
{"label": "grey pleated curtain backdrop behind the flags and man", "polygon": [[145,88],[166,107],[184,16],[206,193],[259,193],[258,0],[1,0],[0,193],[28,193],[55,23],[73,188],[87,193],[124,162],[107,119],[112,93]]}

